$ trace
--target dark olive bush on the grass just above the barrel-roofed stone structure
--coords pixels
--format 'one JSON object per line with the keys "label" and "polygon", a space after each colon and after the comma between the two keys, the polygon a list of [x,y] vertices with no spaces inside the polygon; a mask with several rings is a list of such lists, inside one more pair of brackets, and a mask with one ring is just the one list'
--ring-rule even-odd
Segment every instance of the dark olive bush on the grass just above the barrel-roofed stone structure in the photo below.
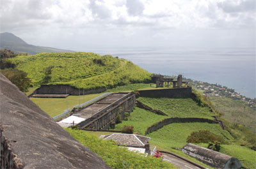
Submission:
{"label": "dark olive bush on the grass just above the barrel-roofed stone structure", "polygon": [[221,136],[215,135],[209,130],[194,131],[188,136],[187,142],[189,143],[209,143],[209,142],[223,142]]}

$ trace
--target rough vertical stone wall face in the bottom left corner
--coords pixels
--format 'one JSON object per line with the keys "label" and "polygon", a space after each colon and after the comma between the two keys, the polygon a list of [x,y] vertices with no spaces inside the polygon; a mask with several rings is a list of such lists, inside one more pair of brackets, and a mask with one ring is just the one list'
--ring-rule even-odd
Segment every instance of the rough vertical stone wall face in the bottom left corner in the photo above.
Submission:
{"label": "rough vertical stone wall face in the bottom left corner", "polygon": [[9,140],[3,135],[3,131],[0,126],[0,141],[1,141],[1,154],[0,154],[0,164],[1,168],[23,168],[23,165],[19,158],[12,153],[12,149],[9,144]]}

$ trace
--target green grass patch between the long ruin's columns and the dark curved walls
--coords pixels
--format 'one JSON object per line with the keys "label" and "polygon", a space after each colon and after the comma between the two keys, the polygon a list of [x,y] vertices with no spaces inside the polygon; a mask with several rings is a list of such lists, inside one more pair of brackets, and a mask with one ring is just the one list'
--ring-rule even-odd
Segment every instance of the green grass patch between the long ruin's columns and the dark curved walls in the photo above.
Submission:
{"label": "green grass patch between the long ruin's columns and the dark curved walls", "polygon": [[134,107],[131,116],[128,117],[128,121],[116,124],[115,129],[121,130],[124,126],[134,126],[134,132],[144,135],[149,126],[165,118],[167,118],[167,116],[158,115],[143,108]]}

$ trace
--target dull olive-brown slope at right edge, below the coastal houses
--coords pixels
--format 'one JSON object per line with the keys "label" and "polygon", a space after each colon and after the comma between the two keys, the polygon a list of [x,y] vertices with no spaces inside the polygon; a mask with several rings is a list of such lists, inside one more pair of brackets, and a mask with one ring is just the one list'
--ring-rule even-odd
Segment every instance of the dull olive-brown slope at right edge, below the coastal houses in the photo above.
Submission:
{"label": "dull olive-brown slope at right edge, below the coastal houses", "polygon": [[256,133],[256,110],[246,106],[246,104],[241,100],[224,97],[209,97],[209,99],[212,105],[218,111],[223,113],[223,117],[225,119],[231,122],[243,124]]}

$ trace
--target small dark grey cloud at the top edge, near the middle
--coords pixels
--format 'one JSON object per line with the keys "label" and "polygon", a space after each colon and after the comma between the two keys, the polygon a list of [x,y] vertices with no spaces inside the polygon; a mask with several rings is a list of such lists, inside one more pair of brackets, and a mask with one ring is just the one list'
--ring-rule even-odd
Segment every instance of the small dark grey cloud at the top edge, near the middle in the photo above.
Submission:
{"label": "small dark grey cloud at the top edge, near the middle", "polygon": [[126,6],[129,15],[132,16],[141,15],[145,8],[139,0],[127,0]]}

